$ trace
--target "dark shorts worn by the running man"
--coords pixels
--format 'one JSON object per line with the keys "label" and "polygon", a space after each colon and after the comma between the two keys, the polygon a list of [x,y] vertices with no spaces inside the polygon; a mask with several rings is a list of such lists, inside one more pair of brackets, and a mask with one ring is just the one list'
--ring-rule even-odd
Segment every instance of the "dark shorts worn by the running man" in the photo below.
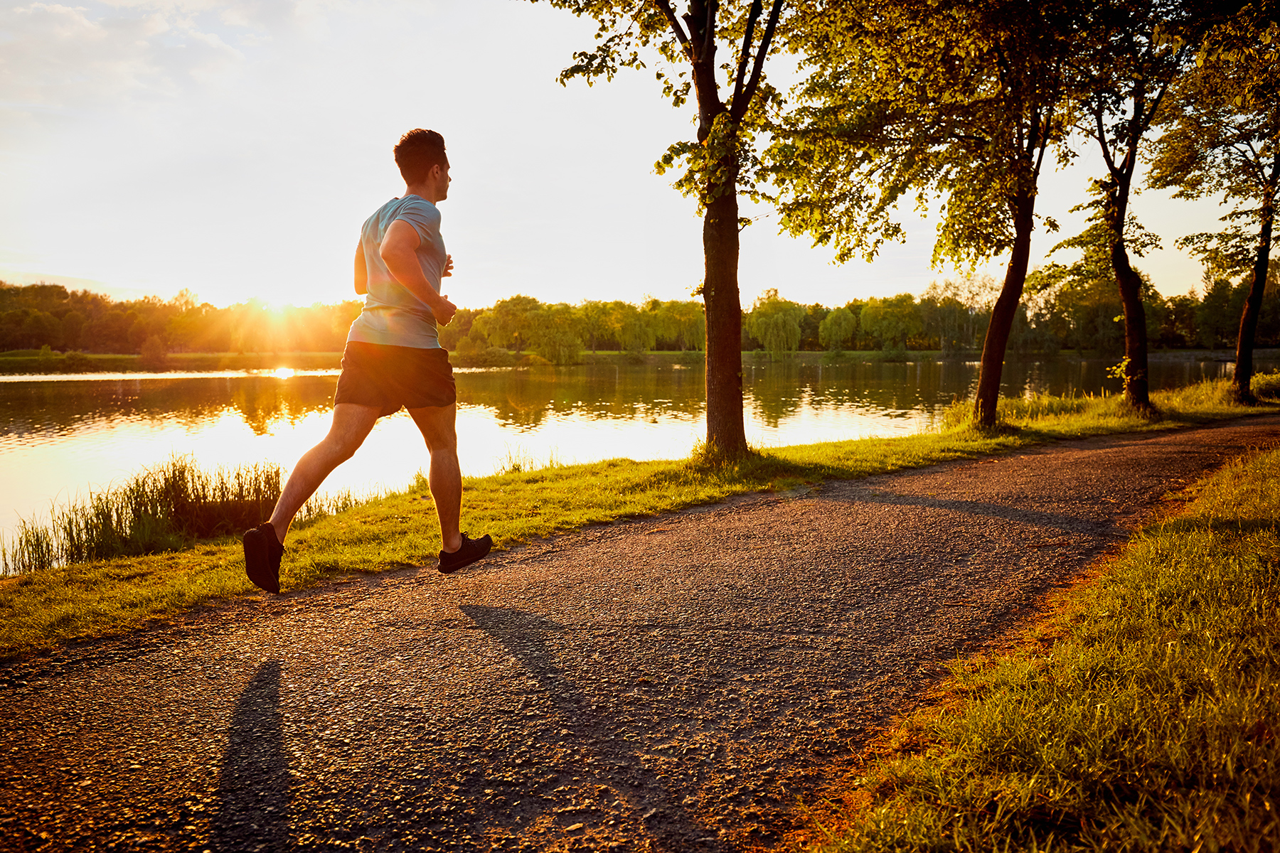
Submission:
{"label": "dark shorts worn by the running man", "polygon": [[347,341],[334,405],[372,405],[383,417],[401,407],[451,405],[457,399],[448,350]]}

